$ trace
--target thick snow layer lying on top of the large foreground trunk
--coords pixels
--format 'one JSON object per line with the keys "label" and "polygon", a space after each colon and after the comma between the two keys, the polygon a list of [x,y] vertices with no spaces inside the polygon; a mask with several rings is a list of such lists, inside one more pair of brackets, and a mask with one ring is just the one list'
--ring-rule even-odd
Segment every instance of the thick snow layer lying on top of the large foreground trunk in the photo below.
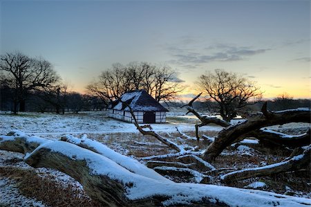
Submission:
{"label": "thick snow layer lying on top of the large foreground trunk", "polygon": [[[86,161],[88,168],[91,169],[91,173],[93,174],[106,175],[122,183],[133,183],[132,187],[126,187],[126,197],[128,199],[143,199],[153,195],[167,195],[170,198],[162,203],[164,206],[173,205],[176,202],[188,204],[189,200],[200,201],[204,197],[213,197],[229,206],[249,206],[249,204],[252,204],[252,206],[272,206],[273,204],[279,204],[281,206],[304,206],[304,204],[310,204],[310,199],[279,195],[272,192],[194,183],[158,181],[134,174],[105,156],[62,141],[40,145],[37,150],[41,147],[65,154],[74,159]],[[236,199],[237,197],[239,199]]]}

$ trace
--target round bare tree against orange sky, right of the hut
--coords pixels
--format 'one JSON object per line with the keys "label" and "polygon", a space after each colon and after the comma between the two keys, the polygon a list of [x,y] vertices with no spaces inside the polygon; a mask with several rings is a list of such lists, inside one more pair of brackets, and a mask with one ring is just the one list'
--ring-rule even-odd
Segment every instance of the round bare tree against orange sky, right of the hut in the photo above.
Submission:
{"label": "round bare tree against orange sky, right of the hut", "polygon": [[218,102],[220,116],[226,121],[236,117],[237,109],[249,105],[251,98],[256,100],[262,95],[254,82],[220,69],[201,75],[197,84],[209,99]]}

